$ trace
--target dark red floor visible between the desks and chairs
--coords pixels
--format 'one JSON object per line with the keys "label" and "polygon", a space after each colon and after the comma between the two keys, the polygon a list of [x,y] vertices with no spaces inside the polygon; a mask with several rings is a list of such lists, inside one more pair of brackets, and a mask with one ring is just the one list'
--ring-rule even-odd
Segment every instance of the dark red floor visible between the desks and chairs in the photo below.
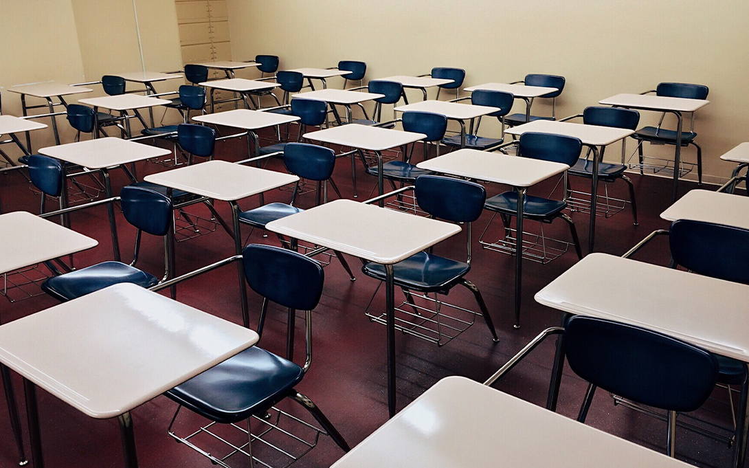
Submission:
{"label": "dark red floor visible between the desks and chairs", "polygon": [[[219,159],[237,160],[245,157],[246,145],[241,142],[219,143],[216,155]],[[272,161],[270,168],[281,170],[282,163]],[[375,178],[364,174],[359,164],[360,200],[372,190]],[[164,168],[151,162],[139,165],[139,177]],[[4,174],[1,177],[0,195],[3,210],[29,210],[37,212],[38,195],[31,192],[28,183],[20,174]],[[598,252],[621,255],[630,246],[656,228],[666,228],[667,222],[658,217],[670,204],[671,183],[655,177],[632,176],[637,189],[640,205],[640,225],[633,226],[628,211],[610,219],[598,219]],[[125,183],[118,171],[113,174],[115,190]],[[346,197],[351,197],[351,165],[348,159],[339,161],[335,179]],[[574,180],[576,186],[587,182]],[[691,184],[682,183],[682,192]],[[543,184],[534,192],[548,194],[551,185]],[[623,183],[616,184],[613,192],[626,196]],[[490,185],[488,192],[494,195],[503,187]],[[332,192],[332,191],[331,191]],[[334,195],[333,195],[334,196]],[[266,201],[288,201],[289,192],[275,190],[266,196]],[[302,207],[314,203],[313,195],[303,195],[299,200]],[[249,208],[258,204],[257,198],[244,200],[241,206]],[[216,202],[220,213],[230,219],[228,205]],[[199,210],[199,208],[198,208]],[[586,246],[588,216],[573,213],[580,233],[580,240]],[[524,264],[524,290],[521,329],[512,329],[513,272],[514,259],[509,255],[480,249],[479,234],[490,218],[485,213],[474,225],[473,270],[468,278],[479,286],[488,308],[494,317],[500,343],[493,344],[484,323],[477,323],[444,347],[422,342],[408,335],[397,337],[398,352],[398,409],[407,405],[437,380],[449,375],[462,375],[483,381],[517,352],[527,341],[547,326],[560,322],[561,313],[539,306],[533,294],[551,282],[577,261],[574,252],[568,252],[551,264],[540,265],[532,262]],[[131,258],[134,230],[118,219],[123,257]],[[537,229],[537,225],[527,223],[527,228]],[[97,248],[76,255],[76,267],[112,258],[109,241],[106,210],[94,208],[86,213],[73,215],[72,226],[77,231],[88,234],[100,241]],[[546,226],[546,233],[554,237],[568,239],[568,230],[563,222]],[[244,230],[245,236],[249,229]],[[275,237],[261,237],[258,231],[252,232],[249,240],[255,243],[277,245]],[[12,243],[13,239],[3,239]],[[147,238],[143,244],[139,267],[151,273],[162,270],[163,243],[155,238]],[[583,251],[586,250],[583,247]],[[443,255],[461,258],[464,255],[464,236],[459,234],[437,247]],[[213,234],[178,243],[176,264],[178,273],[202,267],[233,254],[233,243],[225,232],[217,230]],[[656,240],[648,249],[638,255],[643,261],[666,264],[667,244]],[[377,282],[360,273],[359,262],[348,258],[357,276],[351,282],[336,261],[325,269],[326,285],[320,306],[314,312],[314,360],[312,368],[298,387],[309,395],[327,413],[329,419],[339,428],[351,446],[360,443],[377,427],[386,422],[385,392],[385,329],[370,323],[364,314]],[[616,275],[616,272],[611,272]],[[626,282],[626,278],[621,279]],[[595,281],[594,278],[590,281]],[[616,294],[616,291],[611,291]],[[207,274],[184,283],[178,289],[178,300],[210,312],[228,320],[240,322],[240,307],[237,293],[237,276],[234,267]],[[709,294],[706,291],[705,294]],[[381,295],[381,292],[380,292]],[[396,299],[397,299],[396,295]],[[450,295],[456,303],[475,308],[469,294],[457,289]],[[25,314],[37,312],[55,305],[55,300],[44,295],[8,303],[0,298],[3,321],[13,320]],[[382,298],[375,299],[375,305],[382,304]],[[260,302],[250,292],[252,323],[257,323]],[[271,314],[261,345],[276,353],[285,350],[285,312],[276,309]],[[709,311],[706,311],[709,313]],[[43,346],[43,343],[39,344]],[[546,390],[553,356],[553,345],[543,344],[525,362],[518,365],[505,379],[497,383],[497,389],[518,395],[536,404],[545,404]],[[297,321],[297,362],[303,359],[303,320]],[[20,393],[20,379],[14,377],[16,390]],[[558,411],[565,416],[577,413],[584,391],[584,383],[565,373],[562,379],[562,392]],[[119,441],[118,426],[115,421],[89,419],[77,410],[58,399],[39,392],[40,419],[45,461],[49,467],[103,468],[122,467],[123,460]],[[703,415],[730,424],[730,416],[724,405],[725,390],[716,391],[717,401],[709,403]],[[16,448],[10,434],[10,425],[4,404],[0,405],[0,467],[12,467],[16,463]],[[175,443],[167,434],[166,428],[175,411],[175,404],[167,398],[155,398],[142,407],[133,410],[136,443],[142,467],[207,467],[208,461],[187,447]],[[24,409],[22,408],[22,411]],[[294,410],[297,413],[296,410]],[[22,413],[23,427],[25,413]],[[185,428],[193,428],[197,423],[187,418]],[[632,410],[614,407],[608,395],[599,392],[589,413],[588,423],[604,431],[625,437],[635,443],[661,450],[665,446],[666,427],[664,422],[640,416]],[[28,450],[28,434],[24,434]],[[560,434],[560,437],[564,437]],[[727,467],[731,451],[726,446],[706,437],[688,434],[683,430],[678,436],[679,458],[700,466]],[[300,467],[327,467],[342,456],[342,452],[327,437],[322,437],[317,449],[313,450],[297,465]],[[498,461],[501,464],[501,461]],[[245,461],[235,461],[236,466],[249,466]]]}

